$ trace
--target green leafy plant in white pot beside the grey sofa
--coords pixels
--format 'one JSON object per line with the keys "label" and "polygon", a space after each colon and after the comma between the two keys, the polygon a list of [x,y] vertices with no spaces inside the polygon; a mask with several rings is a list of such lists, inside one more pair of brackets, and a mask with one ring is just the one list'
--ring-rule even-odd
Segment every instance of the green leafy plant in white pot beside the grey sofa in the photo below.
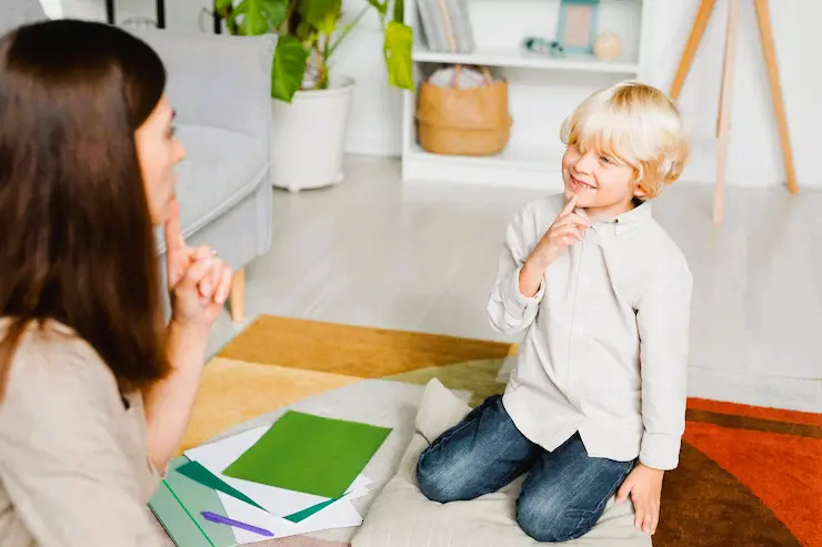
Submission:
{"label": "green leafy plant in white pot beside the grey sofa", "polygon": [[342,0],[215,0],[228,31],[277,34],[271,64],[273,185],[290,191],[342,181],[342,156],[354,81],[333,71],[340,43],[371,9],[384,34],[389,83],[413,89],[413,33],[403,0],[368,0],[348,23]]}

